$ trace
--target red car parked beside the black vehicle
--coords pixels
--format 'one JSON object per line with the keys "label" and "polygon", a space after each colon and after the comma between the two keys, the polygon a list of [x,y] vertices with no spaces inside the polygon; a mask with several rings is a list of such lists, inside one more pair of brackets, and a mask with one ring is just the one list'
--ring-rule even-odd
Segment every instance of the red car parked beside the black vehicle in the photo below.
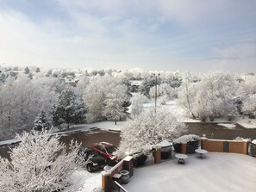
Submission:
{"label": "red car parked beside the black vehicle", "polygon": [[92,148],[101,156],[107,159],[108,165],[114,165],[118,163],[117,158],[113,155],[113,152],[116,152],[116,146],[113,146],[107,142],[99,142],[92,146]]}

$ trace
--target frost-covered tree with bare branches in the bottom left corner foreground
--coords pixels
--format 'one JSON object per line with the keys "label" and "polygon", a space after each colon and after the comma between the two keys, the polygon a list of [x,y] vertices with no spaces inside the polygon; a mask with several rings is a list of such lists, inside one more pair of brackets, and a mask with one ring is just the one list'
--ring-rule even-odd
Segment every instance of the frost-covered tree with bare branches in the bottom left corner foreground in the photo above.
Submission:
{"label": "frost-covered tree with bare branches in the bottom left corner foreground", "polygon": [[0,156],[2,191],[69,190],[70,177],[82,163],[78,143],[66,146],[47,131],[18,134],[17,139],[21,142],[10,149],[10,160]]}

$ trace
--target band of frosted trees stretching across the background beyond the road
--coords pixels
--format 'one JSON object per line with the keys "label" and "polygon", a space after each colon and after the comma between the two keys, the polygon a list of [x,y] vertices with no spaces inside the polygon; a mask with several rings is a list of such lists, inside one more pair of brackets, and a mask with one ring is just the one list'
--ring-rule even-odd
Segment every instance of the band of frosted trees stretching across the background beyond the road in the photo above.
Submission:
{"label": "band of frosted trees stretching across the background beyond the road", "polygon": [[[156,79],[153,72],[140,70],[43,71],[26,67],[22,74],[13,72],[1,69],[0,74],[0,139],[23,130],[134,118],[142,112],[143,103],[156,96],[158,105],[178,99],[191,118],[202,121],[256,115],[253,73],[158,71]],[[75,79],[76,86],[68,84]]]}

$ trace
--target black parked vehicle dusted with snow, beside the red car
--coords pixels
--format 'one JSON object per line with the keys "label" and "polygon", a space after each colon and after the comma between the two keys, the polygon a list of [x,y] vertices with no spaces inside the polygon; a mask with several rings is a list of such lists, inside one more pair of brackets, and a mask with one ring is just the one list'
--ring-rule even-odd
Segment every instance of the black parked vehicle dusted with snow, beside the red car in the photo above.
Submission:
{"label": "black parked vehicle dusted with snow, beside the red car", "polygon": [[84,156],[84,167],[89,172],[102,169],[107,164],[106,159],[90,147],[80,146],[78,153]]}

